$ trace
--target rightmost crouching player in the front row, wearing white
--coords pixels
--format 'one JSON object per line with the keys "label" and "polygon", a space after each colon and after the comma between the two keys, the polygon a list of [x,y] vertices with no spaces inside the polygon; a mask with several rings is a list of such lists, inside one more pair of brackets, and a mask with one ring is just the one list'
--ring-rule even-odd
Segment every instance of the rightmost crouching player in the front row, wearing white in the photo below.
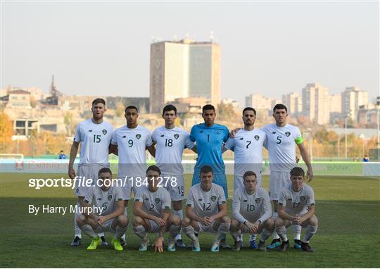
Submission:
{"label": "rightmost crouching player in the front row, wearing white", "polygon": [[305,171],[302,168],[293,168],[290,172],[291,184],[282,189],[279,196],[277,211],[278,218],[275,220],[276,232],[281,237],[282,244],[279,251],[289,248],[289,240],[286,237],[286,228],[291,224],[306,227],[305,238],[301,243],[303,251],[312,252],[309,246],[310,239],[317,232],[318,220],[314,215],[315,201],[312,187],[305,184]]}

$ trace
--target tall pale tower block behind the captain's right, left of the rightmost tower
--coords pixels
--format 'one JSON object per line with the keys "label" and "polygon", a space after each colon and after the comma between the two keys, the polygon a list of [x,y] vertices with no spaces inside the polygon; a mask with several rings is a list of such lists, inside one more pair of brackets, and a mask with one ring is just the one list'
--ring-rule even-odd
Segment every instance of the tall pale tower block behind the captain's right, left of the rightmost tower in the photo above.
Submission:
{"label": "tall pale tower block behind the captain's right, left of the rightmost tower", "polygon": [[302,89],[303,115],[311,122],[323,125],[330,121],[329,90],[318,83]]}

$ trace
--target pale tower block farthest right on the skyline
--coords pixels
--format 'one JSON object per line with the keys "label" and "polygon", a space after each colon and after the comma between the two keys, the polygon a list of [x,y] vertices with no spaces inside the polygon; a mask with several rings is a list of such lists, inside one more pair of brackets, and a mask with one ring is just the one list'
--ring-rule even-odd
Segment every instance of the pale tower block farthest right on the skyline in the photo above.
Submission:
{"label": "pale tower block farthest right on the skyline", "polygon": [[362,91],[359,87],[346,87],[342,92],[342,114],[350,115],[350,118],[357,122],[357,111],[359,106],[368,104],[368,92]]}

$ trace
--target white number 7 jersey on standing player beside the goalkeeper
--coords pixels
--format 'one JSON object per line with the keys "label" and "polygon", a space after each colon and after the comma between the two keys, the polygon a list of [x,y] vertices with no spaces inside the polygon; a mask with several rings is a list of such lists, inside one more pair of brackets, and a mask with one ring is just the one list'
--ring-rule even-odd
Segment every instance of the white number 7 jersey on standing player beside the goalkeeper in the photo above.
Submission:
{"label": "white number 7 jersey on standing player beside the goalkeeper", "polygon": [[253,171],[259,175],[262,170],[262,146],[267,135],[260,129],[236,132],[234,138],[229,138],[224,145],[227,149],[234,149],[235,175],[243,176],[246,171]]}

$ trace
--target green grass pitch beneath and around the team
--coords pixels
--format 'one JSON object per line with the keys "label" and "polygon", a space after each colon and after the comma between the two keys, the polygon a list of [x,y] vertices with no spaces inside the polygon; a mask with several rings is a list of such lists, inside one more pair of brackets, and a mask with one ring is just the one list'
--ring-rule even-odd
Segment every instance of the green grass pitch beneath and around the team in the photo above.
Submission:
{"label": "green grass pitch beneath and around the team", "polygon": [[[258,267],[380,267],[380,180],[369,177],[315,177],[310,182],[316,197],[316,215],[319,219],[317,235],[310,245],[315,253],[289,249],[285,253],[268,251],[262,253],[244,247],[234,253],[222,249],[210,252],[212,234],[201,234],[200,253],[190,249],[178,249],[174,253],[165,251],[156,254],[152,249],[139,252],[139,239],[129,223],[127,247],[124,251],[99,246],[96,251],[87,251],[89,238],[82,237],[82,245],[71,247],[73,237],[73,215],[66,213],[28,213],[28,205],[69,206],[75,204],[75,196],[68,188],[31,189],[29,178],[37,174],[1,174],[0,199],[0,266],[7,267],[55,267],[55,268],[258,268]],[[40,177],[41,175],[39,175]],[[59,178],[66,175],[44,175]],[[191,175],[186,175],[187,190]],[[265,187],[268,177],[264,177]],[[232,189],[232,177],[229,177]],[[231,198],[232,192],[229,192]],[[229,210],[231,200],[228,201]],[[128,216],[132,219],[132,206]],[[229,211],[231,215],[231,211]],[[303,234],[304,234],[303,230]],[[106,234],[108,242],[112,234]],[[150,234],[151,242],[156,234]],[[293,241],[292,229],[289,237]],[[165,234],[165,240],[167,235]],[[184,242],[189,239],[183,235]],[[260,235],[258,236],[260,238]],[[232,244],[228,235],[227,241]],[[270,242],[268,239],[267,242]],[[248,234],[244,235],[245,246]]]}

